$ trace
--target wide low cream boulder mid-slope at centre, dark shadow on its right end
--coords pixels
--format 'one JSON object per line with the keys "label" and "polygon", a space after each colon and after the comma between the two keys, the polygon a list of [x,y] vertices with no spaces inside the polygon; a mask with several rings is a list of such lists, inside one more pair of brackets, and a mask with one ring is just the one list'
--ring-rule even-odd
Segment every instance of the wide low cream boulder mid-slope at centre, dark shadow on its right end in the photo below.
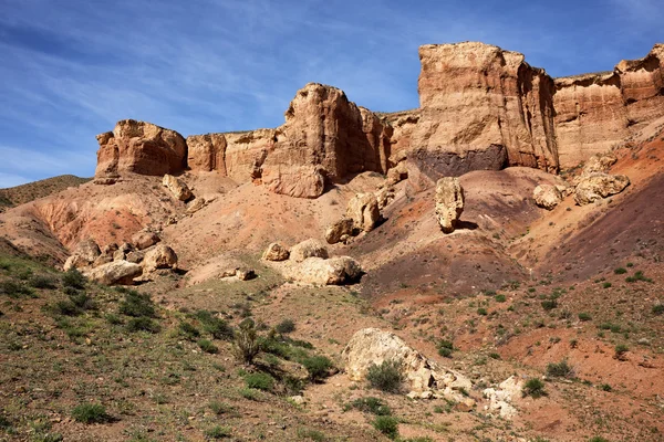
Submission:
{"label": "wide low cream boulder mid-slope at centre, dark shadow on its right end", "polygon": [[343,285],[357,282],[362,267],[350,256],[308,257],[291,270],[290,276],[305,284]]}

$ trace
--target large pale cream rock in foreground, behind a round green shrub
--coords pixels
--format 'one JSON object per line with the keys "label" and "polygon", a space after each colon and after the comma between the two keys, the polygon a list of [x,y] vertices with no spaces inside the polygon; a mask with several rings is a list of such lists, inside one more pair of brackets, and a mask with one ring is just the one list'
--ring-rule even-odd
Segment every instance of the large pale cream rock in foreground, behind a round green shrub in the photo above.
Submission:
{"label": "large pale cream rock in foreground, behind a round green shrub", "polygon": [[434,397],[443,396],[460,401],[464,397],[458,391],[469,392],[473,389],[473,382],[461,373],[438,366],[408,347],[398,336],[378,328],[356,332],[341,356],[347,376],[355,381],[365,379],[372,365],[394,360],[401,362],[406,383],[416,393],[433,391]]}

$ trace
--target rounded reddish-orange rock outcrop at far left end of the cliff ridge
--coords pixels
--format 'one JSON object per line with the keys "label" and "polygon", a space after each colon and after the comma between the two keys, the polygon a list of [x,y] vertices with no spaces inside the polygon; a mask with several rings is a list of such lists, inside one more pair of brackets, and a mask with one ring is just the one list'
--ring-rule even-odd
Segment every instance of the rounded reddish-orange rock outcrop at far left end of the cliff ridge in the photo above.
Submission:
{"label": "rounded reddish-orange rock outcrop at far left end of the cliff ridge", "polygon": [[97,135],[100,149],[95,177],[123,173],[162,176],[187,166],[187,143],[175,130],[151,123],[123,119],[113,131]]}

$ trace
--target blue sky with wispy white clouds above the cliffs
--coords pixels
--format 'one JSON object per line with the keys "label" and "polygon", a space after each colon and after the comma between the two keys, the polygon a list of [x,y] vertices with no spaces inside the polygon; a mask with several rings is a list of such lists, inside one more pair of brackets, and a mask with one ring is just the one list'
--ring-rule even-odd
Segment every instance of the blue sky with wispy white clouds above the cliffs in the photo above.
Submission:
{"label": "blue sky with wispy white clouds above the cliffs", "polygon": [[0,187],[92,176],[98,133],[276,127],[308,82],[417,107],[417,46],[483,41],[553,76],[664,42],[662,0],[0,0]]}

